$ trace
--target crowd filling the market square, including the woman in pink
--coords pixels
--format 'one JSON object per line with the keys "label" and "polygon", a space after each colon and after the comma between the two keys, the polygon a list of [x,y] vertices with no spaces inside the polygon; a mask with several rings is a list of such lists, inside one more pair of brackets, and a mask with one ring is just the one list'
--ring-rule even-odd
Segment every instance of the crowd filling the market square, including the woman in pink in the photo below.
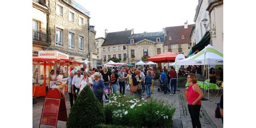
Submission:
{"label": "crowd filling the market square, including the woman in pink", "polygon": [[[223,82],[223,70],[218,68],[218,75],[212,68],[209,72],[210,82],[216,82],[219,78]],[[193,127],[201,127],[199,121],[199,112],[201,107],[201,98],[203,98],[203,92],[197,85],[198,77],[201,75],[200,66],[188,66],[187,68],[180,68],[178,75],[187,77],[187,82],[190,83],[186,88],[184,94],[188,100],[188,110],[192,119]],[[138,98],[142,98],[146,92],[146,98],[150,98],[153,93],[153,79],[158,79],[164,85],[164,92],[170,93],[170,95],[176,94],[176,80],[177,72],[173,66],[170,70],[166,67],[163,69],[161,66],[156,67],[119,67],[107,69],[99,66],[87,70],[86,65],[80,70],[72,70],[70,77],[68,78],[68,92],[70,97],[70,105],[73,106],[73,99],[79,95],[85,86],[90,86],[93,93],[103,103],[103,97],[110,95],[110,93],[117,93],[119,86],[119,93],[125,96],[125,91],[129,90],[130,95],[137,95]],[[170,84],[170,87],[169,87]],[[127,93],[126,93],[127,94]],[[221,96],[223,98],[223,96]],[[223,102],[222,102],[223,104]],[[223,116],[223,105],[221,106],[221,116]]]}

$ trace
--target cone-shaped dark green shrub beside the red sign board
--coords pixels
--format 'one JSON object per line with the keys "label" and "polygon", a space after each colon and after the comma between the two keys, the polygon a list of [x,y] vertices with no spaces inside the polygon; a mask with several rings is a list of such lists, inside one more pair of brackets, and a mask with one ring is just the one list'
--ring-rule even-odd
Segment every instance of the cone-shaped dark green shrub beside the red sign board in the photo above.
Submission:
{"label": "cone-shaped dark green shrub beside the red sign board", "polygon": [[67,127],[93,127],[104,123],[103,106],[89,86],[84,87],[71,107]]}

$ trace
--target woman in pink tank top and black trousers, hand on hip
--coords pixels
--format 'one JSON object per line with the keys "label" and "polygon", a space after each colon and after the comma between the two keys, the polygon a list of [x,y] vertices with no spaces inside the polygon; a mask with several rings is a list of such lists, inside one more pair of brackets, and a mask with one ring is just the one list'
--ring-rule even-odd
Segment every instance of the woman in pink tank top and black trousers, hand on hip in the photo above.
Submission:
{"label": "woman in pink tank top and black trousers, hand on hip", "polygon": [[185,97],[187,99],[188,111],[190,112],[190,117],[192,120],[193,128],[201,127],[201,123],[199,120],[199,113],[201,108],[201,98],[203,98],[204,94],[200,87],[197,85],[197,76],[193,73],[188,74],[187,82],[190,85],[186,88]]}

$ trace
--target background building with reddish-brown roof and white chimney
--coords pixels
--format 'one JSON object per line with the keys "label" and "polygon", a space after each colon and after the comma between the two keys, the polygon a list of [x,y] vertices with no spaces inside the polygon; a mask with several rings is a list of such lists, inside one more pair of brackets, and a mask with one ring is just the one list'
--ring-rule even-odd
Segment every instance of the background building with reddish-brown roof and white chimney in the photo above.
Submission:
{"label": "background building with reddish-brown roof and white chimney", "polygon": [[164,52],[183,53],[187,55],[191,49],[190,34],[194,24],[171,26],[165,28]]}

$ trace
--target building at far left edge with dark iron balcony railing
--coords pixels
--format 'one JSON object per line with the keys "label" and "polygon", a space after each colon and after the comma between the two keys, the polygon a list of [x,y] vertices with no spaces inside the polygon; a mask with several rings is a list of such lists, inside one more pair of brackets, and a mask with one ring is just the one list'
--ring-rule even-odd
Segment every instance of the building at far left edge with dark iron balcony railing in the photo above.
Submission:
{"label": "building at far left edge with dark iron balcony railing", "polygon": [[33,57],[38,56],[38,51],[47,50],[50,45],[50,36],[47,30],[47,14],[49,12],[45,1],[32,1],[32,41]]}

